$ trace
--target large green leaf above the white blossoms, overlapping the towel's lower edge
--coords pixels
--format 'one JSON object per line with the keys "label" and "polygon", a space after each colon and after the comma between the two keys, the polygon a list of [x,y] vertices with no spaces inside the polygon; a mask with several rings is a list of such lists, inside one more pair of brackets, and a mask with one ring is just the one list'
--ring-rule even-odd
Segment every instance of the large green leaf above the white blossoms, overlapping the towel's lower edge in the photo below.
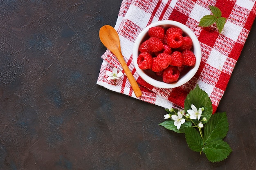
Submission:
{"label": "large green leaf above the white blossoms, overlapping the towel's lower edge", "polygon": [[[203,91],[198,85],[195,89],[191,90],[187,95],[185,102],[184,102],[184,110],[187,113],[187,110],[191,109],[191,104],[195,105],[196,108],[204,107],[204,111],[202,112],[201,118],[205,117],[207,120],[202,121],[205,124],[211,117],[213,108],[211,104],[211,99],[208,94]],[[195,120],[195,122],[199,122]]]}

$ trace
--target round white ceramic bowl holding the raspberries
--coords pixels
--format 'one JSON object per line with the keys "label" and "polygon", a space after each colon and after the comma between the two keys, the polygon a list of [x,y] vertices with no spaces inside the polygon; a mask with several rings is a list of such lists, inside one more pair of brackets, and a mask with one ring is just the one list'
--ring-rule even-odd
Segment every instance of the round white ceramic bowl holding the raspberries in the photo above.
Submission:
{"label": "round white ceramic bowl holding the raspberries", "polygon": [[[195,66],[189,68],[184,74],[181,74],[179,79],[176,82],[173,83],[165,83],[161,80],[161,77],[158,77],[155,75],[153,72],[147,71],[147,70],[141,70],[137,64],[137,58],[139,55],[139,46],[142,42],[144,42],[148,38],[148,29],[153,26],[162,26],[164,28],[169,28],[169,27],[179,27],[182,29],[183,34],[186,36],[189,36],[192,39],[193,42],[193,53],[195,54],[196,57],[196,63]],[[163,21],[158,21],[154,22],[150,25],[148,25],[145,29],[139,33],[137,39],[135,40],[135,44],[133,47],[133,52],[132,52],[132,60],[135,65],[135,68],[139,75],[141,76],[142,79],[144,79],[148,84],[151,84],[153,86],[159,87],[159,88],[175,88],[178,86],[182,86],[186,82],[188,82],[198,71],[200,62],[201,62],[201,47],[200,43],[195,36],[195,34],[189,29],[187,26],[180,22],[176,21],[171,21],[171,20],[163,20]],[[182,73],[183,73],[182,72]]]}

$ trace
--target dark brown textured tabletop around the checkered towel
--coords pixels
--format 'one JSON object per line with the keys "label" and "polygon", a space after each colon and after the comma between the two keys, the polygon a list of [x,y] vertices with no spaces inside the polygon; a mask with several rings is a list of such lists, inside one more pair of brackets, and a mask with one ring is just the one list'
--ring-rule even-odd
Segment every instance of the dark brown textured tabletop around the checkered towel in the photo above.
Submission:
{"label": "dark brown textured tabletop around the checkered towel", "polygon": [[256,24],[218,111],[233,152],[210,163],[164,108],[96,84],[121,0],[0,0],[1,170],[255,170]]}

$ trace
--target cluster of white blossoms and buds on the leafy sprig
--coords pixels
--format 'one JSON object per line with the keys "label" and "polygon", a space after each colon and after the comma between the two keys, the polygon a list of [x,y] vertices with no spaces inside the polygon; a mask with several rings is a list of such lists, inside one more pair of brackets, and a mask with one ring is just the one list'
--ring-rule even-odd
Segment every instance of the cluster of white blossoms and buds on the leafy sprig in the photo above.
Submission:
{"label": "cluster of white blossoms and buds on the leafy sprig", "polygon": [[[173,112],[174,110],[173,110],[173,108],[169,108],[169,111]],[[175,115],[171,115],[171,114],[164,115],[164,119],[172,118],[174,120],[174,126],[176,126],[177,129],[179,130],[180,126],[185,123],[186,119],[198,119],[199,120],[203,111],[204,111],[203,107],[197,109],[195,107],[195,105],[191,104],[191,109],[187,110],[187,114],[185,113],[184,110],[179,110],[177,112],[177,115],[176,114]],[[185,117],[185,119],[183,117]],[[206,118],[204,117],[202,120],[206,121],[205,119]],[[202,122],[199,122],[198,127],[199,128],[204,127]]]}

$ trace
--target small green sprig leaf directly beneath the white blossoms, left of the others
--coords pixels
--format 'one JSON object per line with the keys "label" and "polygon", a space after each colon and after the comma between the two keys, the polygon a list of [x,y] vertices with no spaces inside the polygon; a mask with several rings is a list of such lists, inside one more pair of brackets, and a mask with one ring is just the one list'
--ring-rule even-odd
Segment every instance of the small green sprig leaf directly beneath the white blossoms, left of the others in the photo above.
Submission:
{"label": "small green sprig leaf directly beneath the white blossoms, left of the others", "polygon": [[197,130],[192,126],[185,128],[186,143],[189,148],[195,152],[201,152],[203,147],[203,140]]}

